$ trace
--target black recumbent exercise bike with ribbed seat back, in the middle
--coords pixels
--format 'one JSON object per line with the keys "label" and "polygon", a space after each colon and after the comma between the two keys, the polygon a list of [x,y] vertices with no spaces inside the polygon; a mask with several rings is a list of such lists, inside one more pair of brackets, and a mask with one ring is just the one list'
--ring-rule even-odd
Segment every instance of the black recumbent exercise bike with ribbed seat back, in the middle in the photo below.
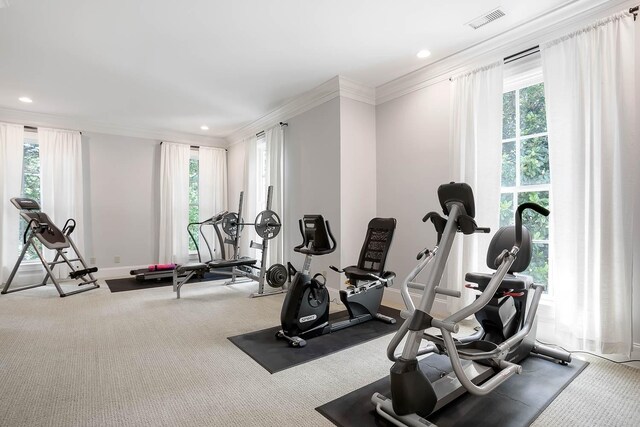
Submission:
{"label": "black recumbent exercise bike with ribbed seat back, in the middle", "polygon": [[372,319],[396,323],[396,319],[378,313],[384,288],[391,286],[395,278],[392,271],[384,271],[384,265],[396,220],[374,218],[369,222],[358,265],[344,270],[329,267],[338,273],[345,273],[350,284],[346,290],[340,290],[340,300],[346,306],[349,318],[331,324],[326,278],[320,273],[312,277],[310,269],[311,258],[335,251],[336,240],[329,221],[322,215],[305,215],[299,224],[303,241],[293,250],[306,257],[302,271],[296,272],[282,305],[282,329],[276,333],[276,338],[288,340],[292,347],[304,347],[307,344],[305,338],[329,334]]}

